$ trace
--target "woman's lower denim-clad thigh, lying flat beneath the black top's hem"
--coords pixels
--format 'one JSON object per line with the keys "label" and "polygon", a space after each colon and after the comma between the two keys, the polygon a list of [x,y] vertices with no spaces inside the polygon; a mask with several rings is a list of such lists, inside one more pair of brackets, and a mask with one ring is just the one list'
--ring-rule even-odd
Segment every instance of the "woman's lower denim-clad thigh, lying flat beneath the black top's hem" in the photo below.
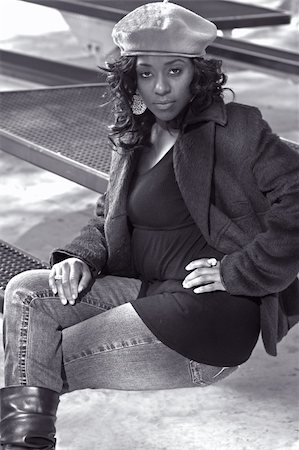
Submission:
{"label": "woman's lower denim-clad thigh, lying flat beneath the black top's hem", "polygon": [[130,303],[63,331],[65,389],[207,386],[236,370],[181,356],[159,341]]}

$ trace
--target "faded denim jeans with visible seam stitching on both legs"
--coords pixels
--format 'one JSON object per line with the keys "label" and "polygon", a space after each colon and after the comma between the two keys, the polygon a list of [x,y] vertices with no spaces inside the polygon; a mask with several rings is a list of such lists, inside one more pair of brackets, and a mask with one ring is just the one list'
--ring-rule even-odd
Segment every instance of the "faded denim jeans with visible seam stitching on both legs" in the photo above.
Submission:
{"label": "faded denim jeans with visible seam stitching on both legs", "polygon": [[4,302],[5,385],[56,392],[206,386],[236,367],[190,361],[159,341],[132,304],[141,282],[100,277],[74,306],[49,289],[48,270],[14,277]]}

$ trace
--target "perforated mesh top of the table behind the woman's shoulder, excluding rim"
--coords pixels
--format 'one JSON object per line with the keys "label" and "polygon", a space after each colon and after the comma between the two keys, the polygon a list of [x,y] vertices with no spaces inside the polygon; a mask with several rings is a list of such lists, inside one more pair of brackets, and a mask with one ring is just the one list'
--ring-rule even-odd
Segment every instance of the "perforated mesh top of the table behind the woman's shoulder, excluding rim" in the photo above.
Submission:
{"label": "perforated mesh top of the table behind the woman's shoulder, excluding rim", "polygon": [[108,173],[112,115],[111,105],[101,106],[105,92],[106,87],[98,85],[3,92],[0,133]]}

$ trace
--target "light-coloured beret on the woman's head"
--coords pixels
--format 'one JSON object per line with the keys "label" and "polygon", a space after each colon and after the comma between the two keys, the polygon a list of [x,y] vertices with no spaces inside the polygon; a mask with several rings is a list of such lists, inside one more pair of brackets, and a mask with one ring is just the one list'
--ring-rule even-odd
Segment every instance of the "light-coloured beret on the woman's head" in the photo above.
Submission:
{"label": "light-coloured beret on the woman's head", "polygon": [[204,56],[216,35],[212,22],[168,0],[134,9],[112,30],[112,39],[124,56]]}

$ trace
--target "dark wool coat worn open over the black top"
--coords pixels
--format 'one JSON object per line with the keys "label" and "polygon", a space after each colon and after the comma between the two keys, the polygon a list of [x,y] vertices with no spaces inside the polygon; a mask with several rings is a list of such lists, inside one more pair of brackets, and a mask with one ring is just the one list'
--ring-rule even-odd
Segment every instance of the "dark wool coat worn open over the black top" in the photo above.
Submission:
{"label": "dark wool coat worn open over the black top", "polygon": [[[94,276],[133,276],[126,205],[135,162],[134,152],[113,152],[96,217],[54,252],[52,263],[77,256]],[[299,314],[298,155],[271,132],[259,110],[219,101],[187,116],[173,163],[191,216],[208,244],[226,255],[226,290],[261,297],[264,346],[276,355],[277,342]]]}

